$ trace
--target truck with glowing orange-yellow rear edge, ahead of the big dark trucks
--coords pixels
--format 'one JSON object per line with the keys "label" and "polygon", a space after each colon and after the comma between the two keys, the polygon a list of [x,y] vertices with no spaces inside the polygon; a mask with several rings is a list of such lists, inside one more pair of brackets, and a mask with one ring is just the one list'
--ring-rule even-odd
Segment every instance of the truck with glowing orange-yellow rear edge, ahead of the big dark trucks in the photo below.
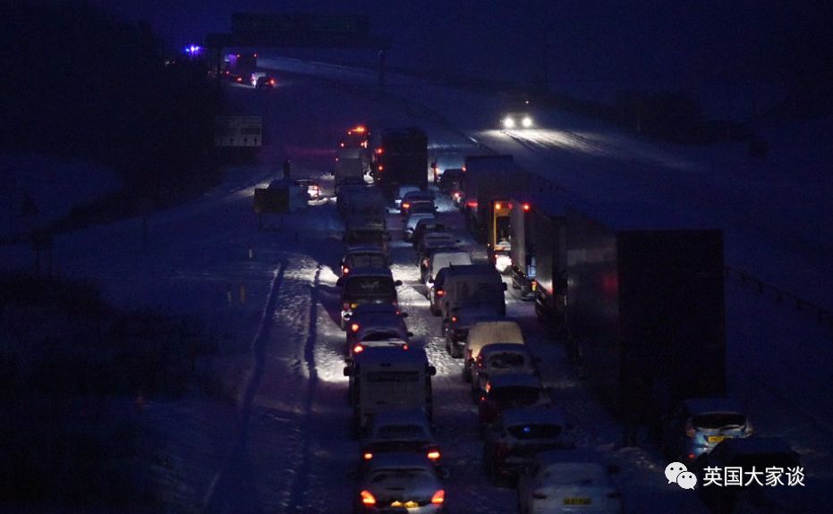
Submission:
{"label": "truck with glowing orange-yellow rear edge, ahead of the big dark trucks", "polygon": [[512,156],[466,156],[461,184],[466,226],[475,239],[486,243],[492,262],[501,245],[508,250],[510,199],[529,190],[529,173],[514,164]]}

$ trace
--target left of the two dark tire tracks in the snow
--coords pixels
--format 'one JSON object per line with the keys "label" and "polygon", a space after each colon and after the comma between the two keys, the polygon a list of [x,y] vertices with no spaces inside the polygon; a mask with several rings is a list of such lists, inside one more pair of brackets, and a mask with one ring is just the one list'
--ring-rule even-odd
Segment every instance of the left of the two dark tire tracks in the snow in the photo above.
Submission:
{"label": "left of the two dark tire tracks in the snow", "polygon": [[259,512],[257,496],[248,489],[253,489],[251,466],[246,458],[246,443],[251,425],[252,403],[263,377],[266,361],[266,342],[272,329],[273,314],[276,308],[278,291],[284,282],[285,261],[278,263],[278,268],[269,287],[266,305],[260,315],[258,333],[251,341],[251,358],[254,368],[243,396],[243,405],[235,430],[234,443],[217,476],[208,486],[203,505],[206,512]]}

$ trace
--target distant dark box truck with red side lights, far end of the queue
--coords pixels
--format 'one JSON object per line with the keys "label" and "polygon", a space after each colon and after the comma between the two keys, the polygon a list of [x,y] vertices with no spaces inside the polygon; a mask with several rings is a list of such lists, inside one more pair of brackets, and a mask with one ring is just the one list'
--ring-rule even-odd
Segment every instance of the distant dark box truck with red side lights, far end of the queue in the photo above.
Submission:
{"label": "distant dark box truck with red side lights, far end of the queue", "polygon": [[388,200],[411,186],[428,189],[428,136],[419,128],[381,131],[374,145],[372,173]]}

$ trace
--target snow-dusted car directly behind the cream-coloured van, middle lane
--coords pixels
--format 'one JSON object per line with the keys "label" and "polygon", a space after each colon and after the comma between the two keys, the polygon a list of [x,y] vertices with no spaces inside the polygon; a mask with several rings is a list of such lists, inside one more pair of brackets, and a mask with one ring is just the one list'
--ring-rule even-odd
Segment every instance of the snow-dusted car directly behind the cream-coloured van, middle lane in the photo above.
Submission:
{"label": "snow-dusted car directly behind the cream-coloured van, middle lane", "polygon": [[[471,333],[471,331],[470,331]],[[472,400],[476,404],[489,377],[506,373],[525,373],[540,378],[539,358],[525,344],[495,342],[480,349],[471,366]]]}

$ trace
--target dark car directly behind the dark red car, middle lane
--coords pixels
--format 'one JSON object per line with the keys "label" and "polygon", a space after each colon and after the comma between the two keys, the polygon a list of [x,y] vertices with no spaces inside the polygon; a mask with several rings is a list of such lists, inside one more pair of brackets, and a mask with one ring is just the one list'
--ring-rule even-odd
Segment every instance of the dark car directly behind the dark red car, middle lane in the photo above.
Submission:
{"label": "dark car directly behind the dark red car, middle lane", "polygon": [[483,467],[499,483],[517,477],[540,451],[574,448],[559,409],[506,409],[486,432]]}

